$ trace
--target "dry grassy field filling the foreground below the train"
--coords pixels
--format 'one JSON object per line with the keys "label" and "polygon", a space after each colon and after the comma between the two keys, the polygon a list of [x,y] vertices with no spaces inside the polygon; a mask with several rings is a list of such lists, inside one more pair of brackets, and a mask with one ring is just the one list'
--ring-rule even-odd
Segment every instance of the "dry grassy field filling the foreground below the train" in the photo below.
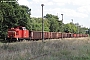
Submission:
{"label": "dry grassy field filling the foreground below the train", "polygon": [[0,60],[90,60],[90,38],[0,43]]}

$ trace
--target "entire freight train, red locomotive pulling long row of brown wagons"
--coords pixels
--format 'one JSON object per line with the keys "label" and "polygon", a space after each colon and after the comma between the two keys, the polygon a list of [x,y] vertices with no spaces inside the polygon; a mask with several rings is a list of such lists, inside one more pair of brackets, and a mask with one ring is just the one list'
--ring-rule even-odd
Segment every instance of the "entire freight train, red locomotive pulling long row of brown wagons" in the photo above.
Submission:
{"label": "entire freight train, red locomotive pulling long row of brown wagons", "polygon": [[[87,34],[73,34],[61,32],[44,32],[44,39],[88,37]],[[29,31],[25,27],[18,26],[8,29],[7,40],[39,40],[42,39],[41,31]]]}

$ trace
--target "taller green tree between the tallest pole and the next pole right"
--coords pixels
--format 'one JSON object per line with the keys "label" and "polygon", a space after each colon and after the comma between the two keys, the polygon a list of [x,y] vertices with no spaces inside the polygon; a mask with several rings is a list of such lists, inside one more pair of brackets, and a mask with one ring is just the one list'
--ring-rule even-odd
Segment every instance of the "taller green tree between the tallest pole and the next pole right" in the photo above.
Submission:
{"label": "taller green tree between the tallest pole and the next pole right", "polygon": [[52,14],[46,14],[46,16],[44,17],[48,19],[50,32],[58,32],[59,31],[58,16]]}

